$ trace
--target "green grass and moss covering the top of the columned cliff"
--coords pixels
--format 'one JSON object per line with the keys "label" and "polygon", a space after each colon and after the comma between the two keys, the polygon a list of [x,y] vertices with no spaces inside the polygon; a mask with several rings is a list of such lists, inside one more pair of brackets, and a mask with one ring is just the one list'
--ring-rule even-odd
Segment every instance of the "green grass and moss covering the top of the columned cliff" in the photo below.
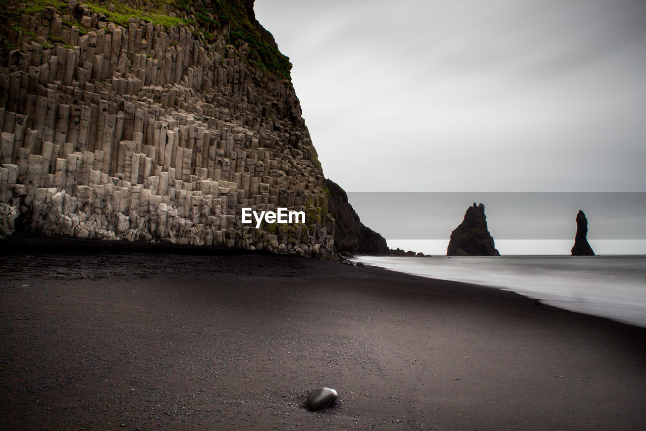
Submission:
{"label": "green grass and moss covering the top of the columned cliff", "polygon": [[[130,18],[138,18],[155,25],[171,27],[183,25],[191,28],[205,42],[213,42],[217,35],[222,35],[227,43],[240,47],[247,43],[249,54],[247,60],[260,69],[270,72],[276,78],[290,80],[291,63],[281,54],[273,36],[256,21],[253,13],[254,0],[33,0],[16,3],[0,0],[0,19],[2,26],[30,34],[18,25],[23,15],[40,14],[48,6],[56,8],[63,17],[63,25],[79,27],[79,18],[70,15],[70,5],[82,3],[90,11],[98,14],[105,21],[127,26]],[[5,33],[3,29],[3,34]],[[5,39],[3,34],[0,38]],[[33,34],[32,36],[36,36]],[[5,48],[6,40],[1,41]],[[15,49],[15,47],[13,47]]]}

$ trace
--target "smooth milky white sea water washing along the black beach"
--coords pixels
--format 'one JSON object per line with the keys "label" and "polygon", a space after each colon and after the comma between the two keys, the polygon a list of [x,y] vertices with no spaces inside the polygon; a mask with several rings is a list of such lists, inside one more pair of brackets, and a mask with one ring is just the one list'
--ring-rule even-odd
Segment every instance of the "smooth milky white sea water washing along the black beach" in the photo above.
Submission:
{"label": "smooth milky white sea water washing along the black beach", "polygon": [[555,307],[646,327],[646,256],[355,256],[416,276],[514,291]]}

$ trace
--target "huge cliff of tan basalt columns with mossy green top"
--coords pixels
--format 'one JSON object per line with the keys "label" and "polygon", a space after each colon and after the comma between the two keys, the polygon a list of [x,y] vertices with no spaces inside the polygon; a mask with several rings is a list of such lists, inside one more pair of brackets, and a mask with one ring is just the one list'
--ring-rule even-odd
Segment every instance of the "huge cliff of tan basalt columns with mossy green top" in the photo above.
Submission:
{"label": "huge cliff of tan basalt columns with mossy green top", "polygon": [[[0,235],[333,253],[291,64],[253,0],[3,1],[0,17]],[[306,223],[255,229],[243,206]]]}

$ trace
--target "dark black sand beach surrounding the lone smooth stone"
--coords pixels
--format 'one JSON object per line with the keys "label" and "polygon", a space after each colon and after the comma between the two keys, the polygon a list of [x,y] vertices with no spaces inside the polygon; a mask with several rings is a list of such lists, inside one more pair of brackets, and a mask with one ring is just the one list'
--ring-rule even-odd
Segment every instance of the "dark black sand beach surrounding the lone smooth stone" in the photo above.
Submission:
{"label": "dark black sand beach surrounding the lone smooth stone", "polygon": [[[43,244],[0,243],[3,429],[646,423],[646,329],[377,268]],[[317,386],[337,408],[303,408]]]}

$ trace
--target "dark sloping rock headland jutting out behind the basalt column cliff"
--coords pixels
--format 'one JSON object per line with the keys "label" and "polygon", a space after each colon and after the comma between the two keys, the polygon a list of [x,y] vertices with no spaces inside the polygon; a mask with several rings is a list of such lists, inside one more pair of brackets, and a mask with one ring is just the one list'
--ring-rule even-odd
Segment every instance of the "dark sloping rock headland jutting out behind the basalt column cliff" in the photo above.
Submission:
{"label": "dark sloping rock headland jutting out behind the basalt column cliff", "polygon": [[388,254],[386,239],[361,223],[348,203],[348,194],[339,184],[326,179],[329,190],[328,210],[335,219],[334,249],[337,253],[363,253],[371,256]]}

